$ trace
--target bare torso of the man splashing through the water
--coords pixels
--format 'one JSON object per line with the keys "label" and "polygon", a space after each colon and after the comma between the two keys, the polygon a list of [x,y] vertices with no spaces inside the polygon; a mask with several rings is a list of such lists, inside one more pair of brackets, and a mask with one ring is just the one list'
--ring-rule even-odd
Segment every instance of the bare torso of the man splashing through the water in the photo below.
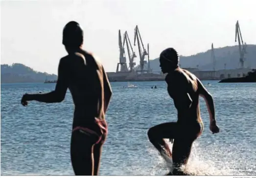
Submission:
{"label": "bare torso of the man splashing through the water", "polygon": [[168,93],[178,111],[178,122],[201,122],[199,108],[200,81],[187,70],[177,68],[165,78]]}

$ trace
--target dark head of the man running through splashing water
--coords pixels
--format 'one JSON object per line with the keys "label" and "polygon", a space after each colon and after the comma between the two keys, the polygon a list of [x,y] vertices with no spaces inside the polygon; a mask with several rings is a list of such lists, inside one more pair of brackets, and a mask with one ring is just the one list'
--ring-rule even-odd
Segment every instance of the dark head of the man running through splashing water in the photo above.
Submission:
{"label": "dark head of the man running through splashing water", "polygon": [[173,48],[167,48],[160,54],[160,67],[163,73],[176,69],[179,65],[179,55]]}

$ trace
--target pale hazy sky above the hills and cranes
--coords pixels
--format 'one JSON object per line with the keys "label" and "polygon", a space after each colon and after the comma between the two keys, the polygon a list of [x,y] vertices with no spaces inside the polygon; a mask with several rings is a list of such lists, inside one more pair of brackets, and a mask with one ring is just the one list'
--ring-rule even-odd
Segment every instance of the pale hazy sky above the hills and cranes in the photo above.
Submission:
{"label": "pale hazy sky above the hills and cranes", "polygon": [[47,73],[56,74],[67,54],[62,30],[70,20],[82,25],[83,48],[108,72],[116,71],[119,60],[118,30],[127,30],[133,43],[136,25],[144,46],[150,45],[150,59],[167,47],[189,56],[212,42],[235,45],[236,20],[243,40],[256,44],[256,0],[1,0],[0,5],[1,64],[19,62]]}

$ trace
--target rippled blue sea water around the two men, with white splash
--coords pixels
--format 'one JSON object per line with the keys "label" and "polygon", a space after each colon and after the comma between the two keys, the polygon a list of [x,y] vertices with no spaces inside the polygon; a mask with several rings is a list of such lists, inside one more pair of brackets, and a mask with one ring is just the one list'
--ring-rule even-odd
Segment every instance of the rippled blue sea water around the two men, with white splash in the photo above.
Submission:
{"label": "rippled blue sea water around the two men, with white splash", "polygon": [[[207,83],[211,85],[207,85]],[[186,171],[196,175],[256,175],[256,83],[203,81],[212,94],[220,133],[205,128],[192,148]],[[100,175],[163,175],[168,167],[147,138],[148,128],[177,119],[161,82],[113,82],[107,111],[109,135]],[[151,86],[157,85],[157,89]],[[22,95],[49,92],[55,84],[1,84],[1,175],[74,175],[70,163],[73,103],[20,104]]]}

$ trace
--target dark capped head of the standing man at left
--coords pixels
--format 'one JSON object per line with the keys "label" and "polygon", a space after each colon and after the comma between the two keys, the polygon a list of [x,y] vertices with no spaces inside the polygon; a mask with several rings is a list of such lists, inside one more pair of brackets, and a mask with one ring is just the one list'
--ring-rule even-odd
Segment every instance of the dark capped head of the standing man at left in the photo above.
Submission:
{"label": "dark capped head of the standing man at left", "polygon": [[76,21],[70,21],[63,29],[62,44],[65,47],[77,48],[83,44],[84,32]]}

